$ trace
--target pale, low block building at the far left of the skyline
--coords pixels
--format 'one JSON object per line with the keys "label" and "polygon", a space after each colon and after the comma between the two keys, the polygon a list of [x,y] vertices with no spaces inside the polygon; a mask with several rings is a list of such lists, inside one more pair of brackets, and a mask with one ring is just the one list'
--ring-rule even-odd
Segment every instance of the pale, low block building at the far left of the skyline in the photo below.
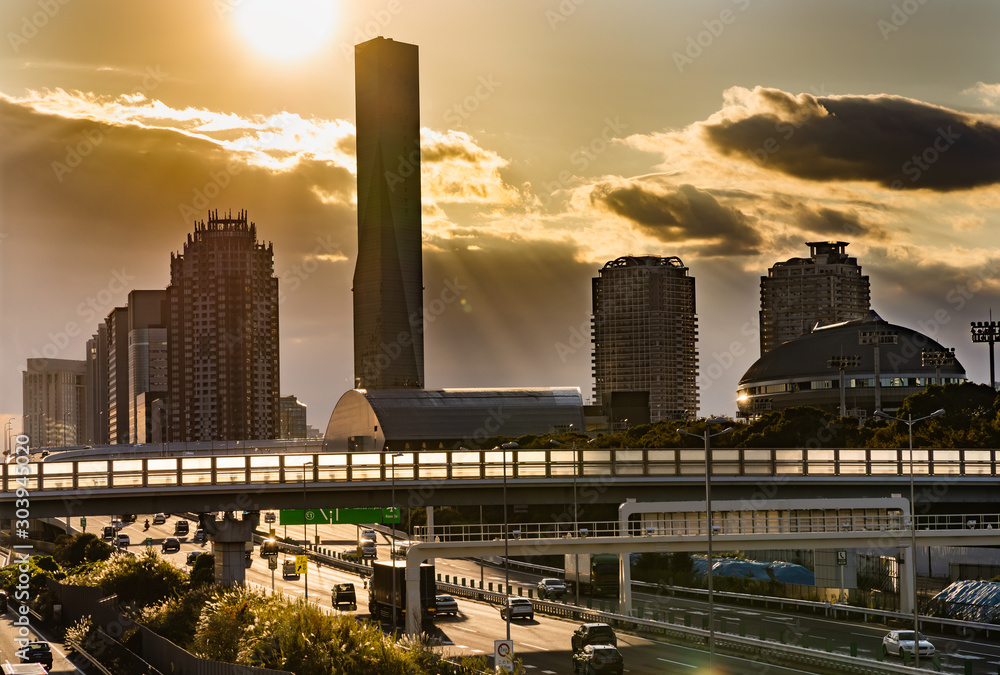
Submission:
{"label": "pale, low block building at the far left of the skyline", "polygon": [[87,362],[28,359],[21,374],[24,429],[33,448],[82,445],[87,437]]}

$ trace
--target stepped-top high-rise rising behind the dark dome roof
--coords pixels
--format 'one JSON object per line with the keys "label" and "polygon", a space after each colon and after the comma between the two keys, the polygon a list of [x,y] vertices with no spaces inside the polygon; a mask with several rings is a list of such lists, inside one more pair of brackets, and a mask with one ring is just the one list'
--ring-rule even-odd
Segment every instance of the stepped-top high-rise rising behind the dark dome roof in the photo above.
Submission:
{"label": "stepped-top high-rise rising behind the dark dome roof", "polygon": [[[868,277],[846,241],[812,241],[808,258],[776,263],[760,278],[760,354],[826,325],[863,319],[871,309]],[[832,356],[832,355],[831,355]]]}

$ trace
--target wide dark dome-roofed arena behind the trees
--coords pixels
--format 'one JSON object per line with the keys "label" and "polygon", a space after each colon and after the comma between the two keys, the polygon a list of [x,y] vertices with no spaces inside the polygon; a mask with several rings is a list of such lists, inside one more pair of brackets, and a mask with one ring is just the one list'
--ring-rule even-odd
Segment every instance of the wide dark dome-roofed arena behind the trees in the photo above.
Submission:
{"label": "wide dark dome-roofed arena behind the trees", "polygon": [[[890,342],[878,347],[879,387],[875,386],[876,339]],[[757,359],[738,385],[739,416],[755,418],[790,406],[838,412],[838,361],[842,357],[848,357],[842,362],[857,357],[856,365],[844,368],[843,379],[847,413],[858,417],[872,415],[877,399],[878,407],[892,412],[903,399],[929,384],[966,379],[965,369],[954,359],[954,350],[915,330],[890,324],[871,311],[864,319],[817,327]],[[934,365],[935,361],[939,365]]]}

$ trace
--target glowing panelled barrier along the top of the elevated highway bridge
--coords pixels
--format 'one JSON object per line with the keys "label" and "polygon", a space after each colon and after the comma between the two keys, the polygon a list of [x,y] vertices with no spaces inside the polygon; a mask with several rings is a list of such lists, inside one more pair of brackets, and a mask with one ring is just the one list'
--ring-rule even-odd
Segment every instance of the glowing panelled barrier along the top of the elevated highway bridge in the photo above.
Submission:
{"label": "glowing panelled barrier along the top of the elevated highway bridge", "polygon": [[[134,446],[118,446],[114,458],[75,457],[2,465],[2,490],[27,468],[33,492],[111,487],[176,485],[301,484],[388,481],[393,465],[383,453],[317,452],[261,454],[259,449],[239,455],[128,457]],[[228,451],[228,450],[227,450]],[[1000,450],[914,450],[915,476],[997,476]],[[704,450],[694,448],[610,448],[571,450],[508,450],[508,478],[551,479],[594,477],[695,477],[704,475]],[[27,459],[27,458],[25,458]],[[742,476],[878,476],[910,475],[909,450],[896,449],[786,449],[715,448],[712,475]],[[308,467],[308,469],[306,468]],[[504,453],[479,451],[403,452],[395,461],[395,481],[502,479]]]}

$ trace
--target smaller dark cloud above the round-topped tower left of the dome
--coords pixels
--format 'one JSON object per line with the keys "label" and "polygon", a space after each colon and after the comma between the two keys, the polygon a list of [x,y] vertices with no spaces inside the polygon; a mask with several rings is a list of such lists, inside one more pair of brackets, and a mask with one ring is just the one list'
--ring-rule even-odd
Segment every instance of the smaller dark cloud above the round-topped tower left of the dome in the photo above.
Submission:
{"label": "smaller dark cloud above the round-topped tower left of the dome", "polygon": [[602,183],[593,188],[590,201],[667,243],[715,240],[700,250],[703,255],[750,255],[761,242],[750,218],[693,185],[660,191],[639,182]]}

